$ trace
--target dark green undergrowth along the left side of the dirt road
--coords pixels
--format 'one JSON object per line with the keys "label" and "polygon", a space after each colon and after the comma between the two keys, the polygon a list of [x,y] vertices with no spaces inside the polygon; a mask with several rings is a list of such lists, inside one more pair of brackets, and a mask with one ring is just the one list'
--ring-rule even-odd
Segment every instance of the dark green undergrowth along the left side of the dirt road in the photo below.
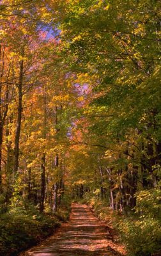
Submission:
{"label": "dark green undergrowth along the left side of the dirt road", "polygon": [[17,255],[40,242],[61,225],[60,221],[67,220],[69,212],[64,208],[56,215],[40,214],[33,205],[11,207],[10,211],[1,214],[0,255]]}

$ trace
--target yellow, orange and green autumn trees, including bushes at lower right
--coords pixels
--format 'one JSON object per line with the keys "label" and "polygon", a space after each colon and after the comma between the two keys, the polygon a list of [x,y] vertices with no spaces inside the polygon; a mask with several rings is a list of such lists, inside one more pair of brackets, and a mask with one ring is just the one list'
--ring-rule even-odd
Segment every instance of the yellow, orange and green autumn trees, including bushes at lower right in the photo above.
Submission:
{"label": "yellow, orange and green autumn trees, including bushes at lower right", "polygon": [[56,213],[68,195],[100,200],[126,216],[118,230],[129,255],[160,251],[159,9],[1,1],[2,214]]}

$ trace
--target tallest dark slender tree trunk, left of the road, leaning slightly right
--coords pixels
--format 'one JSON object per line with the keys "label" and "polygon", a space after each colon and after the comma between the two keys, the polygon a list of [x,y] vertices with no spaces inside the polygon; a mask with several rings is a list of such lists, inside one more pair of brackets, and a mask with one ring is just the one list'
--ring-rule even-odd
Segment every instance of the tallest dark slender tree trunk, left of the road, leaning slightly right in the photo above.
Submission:
{"label": "tallest dark slender tree trunk, left of the road, leaning slightly right", "polygon": [[17,175],[19,168],[19,141],[20,141],[20,128],[22,120],[22,81],[23,81],[24,62],[20,61],[20,75],[19,75],[19,103],[18,103],[18,116],[17,116],[17,128],[15,132],[15,149],[14,149],[14,175]]}

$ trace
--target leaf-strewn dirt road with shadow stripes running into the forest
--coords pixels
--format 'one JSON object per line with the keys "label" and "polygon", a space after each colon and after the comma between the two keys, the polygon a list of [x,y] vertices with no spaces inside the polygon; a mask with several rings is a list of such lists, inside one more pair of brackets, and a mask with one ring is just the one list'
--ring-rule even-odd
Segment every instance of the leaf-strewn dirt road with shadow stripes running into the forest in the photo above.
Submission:
{"label": "leaf-strewn dirt road with shadow stripes running into the forest", "polygon": [[72,204],[68,223],[54,236],[20,256],[123,256],[125,248],[108,232],[107,224],[98,220],[87,205]]}

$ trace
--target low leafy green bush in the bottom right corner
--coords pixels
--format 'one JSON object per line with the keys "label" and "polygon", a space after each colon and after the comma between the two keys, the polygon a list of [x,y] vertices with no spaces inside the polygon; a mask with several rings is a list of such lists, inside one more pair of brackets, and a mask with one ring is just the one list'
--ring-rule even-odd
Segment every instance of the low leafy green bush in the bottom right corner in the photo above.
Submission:
{"label": "low leafy green bush in the bottom right corner", "polygon": [[150,256],[160,250],[161,230],[158,221],[150,218],[121,220],[118,229],[129,256]]}

